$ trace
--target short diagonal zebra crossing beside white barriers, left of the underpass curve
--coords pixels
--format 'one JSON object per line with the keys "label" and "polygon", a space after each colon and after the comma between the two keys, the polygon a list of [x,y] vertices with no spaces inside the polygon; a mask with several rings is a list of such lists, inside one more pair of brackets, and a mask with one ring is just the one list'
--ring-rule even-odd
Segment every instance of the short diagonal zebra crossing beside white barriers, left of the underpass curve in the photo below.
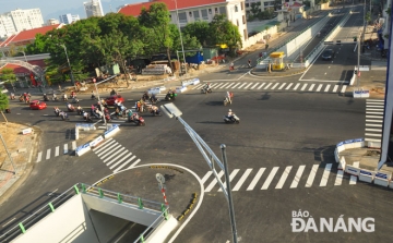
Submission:
{"label": "short diagonal zebra crossing beside white barriers, left of the underpass curve", "polygon": [[105,141],[104,144],[94,148],[93,151],[115,173],[120,170],[130,169],[141,161],[141,159],[132,155],[131,151],[114,138]]}

